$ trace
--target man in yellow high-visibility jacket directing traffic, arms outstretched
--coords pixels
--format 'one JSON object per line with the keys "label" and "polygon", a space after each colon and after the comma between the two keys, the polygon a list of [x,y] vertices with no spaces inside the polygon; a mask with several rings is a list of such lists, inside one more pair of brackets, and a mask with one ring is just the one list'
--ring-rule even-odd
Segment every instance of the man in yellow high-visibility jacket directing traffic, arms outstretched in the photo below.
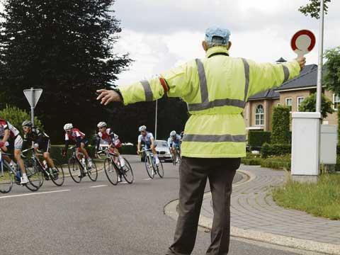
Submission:
{"label": "man in yellow high-visibility jacket directing traffic, arms outstretched", "polygon": [[196,241],[200,207],[207,179],[214,218],[206,254],[229,251],[232,179],[246,156],[246,129],[242,111],[249,96],[293,79],[305,65],[301,57],[284,64],[258,64],[229,57],[229,30],[208,28],[203,41],[204,60],[193,60],[149,81],[100,90],[98,100],[125,105],[154,101],[166,93],[188,103],[191,117],[184,130],[180,166],[179,219],[174,244],[167,254],[191,254]]}

